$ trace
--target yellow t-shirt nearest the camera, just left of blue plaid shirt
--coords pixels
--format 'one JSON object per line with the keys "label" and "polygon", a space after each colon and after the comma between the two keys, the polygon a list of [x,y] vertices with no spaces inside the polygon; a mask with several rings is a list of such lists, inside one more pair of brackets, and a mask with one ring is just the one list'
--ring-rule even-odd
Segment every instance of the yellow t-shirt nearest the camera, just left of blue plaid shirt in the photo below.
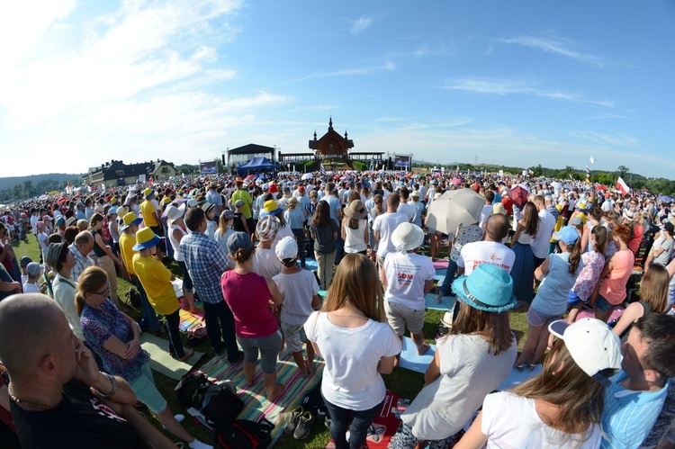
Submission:
{"label": "yellow t-shirt nearest the camera, just left of blue plaid shirt", "polygon": [[136,253],[133,256],[133,269],[157,313],[171,315],[180,308],[171,283],[171,272],[166,266],[152,257],[141,257]]}

